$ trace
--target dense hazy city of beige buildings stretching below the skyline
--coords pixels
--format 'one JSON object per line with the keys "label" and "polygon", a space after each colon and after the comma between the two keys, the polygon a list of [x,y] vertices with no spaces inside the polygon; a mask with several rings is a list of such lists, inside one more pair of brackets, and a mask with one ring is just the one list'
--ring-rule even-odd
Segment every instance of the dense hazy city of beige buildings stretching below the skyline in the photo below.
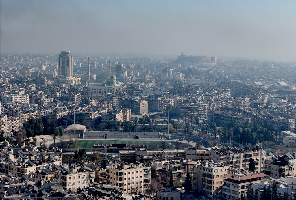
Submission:
{"label": "dense hazy city of beige buildings stretching below the skyline", "polygon": [[292,200],[295,62],[184,53],[1,54],[1,199]]}

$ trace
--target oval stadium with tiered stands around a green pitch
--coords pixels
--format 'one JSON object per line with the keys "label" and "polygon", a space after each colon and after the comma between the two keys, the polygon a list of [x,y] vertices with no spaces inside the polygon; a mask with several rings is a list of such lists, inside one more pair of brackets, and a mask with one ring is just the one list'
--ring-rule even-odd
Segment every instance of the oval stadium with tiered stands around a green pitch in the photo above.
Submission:
{"label": "oval stadium with tiered stands around a green pitch", "polygon": [[[54,146],[54,136],[37,136],[37,143],[46,144],[49,147]],[[175,149],[173,143],[179,141],[183,144],[188,144],[188,135],[185,134],[163,134],[160,132],[110,132],[110,131],[86,131],[83,137],[79,134],[63,136],[56,136],[56,147],[60,147],[60,142],[69,141],[70,139],[77,139],[78,148],[81,149],[94,149],[98,148],[97,145],[112,145],[112,144],[126,144],[126,145],[141,145],[148,149],[162,149],[163,142],[165,141],[167,149]],[[189,136],[189,147],[195,147],[199,142],[204,148],[210,148],[211,145],[208,141],[199,136]],[[158,148],[156,148],[158,147]]]}

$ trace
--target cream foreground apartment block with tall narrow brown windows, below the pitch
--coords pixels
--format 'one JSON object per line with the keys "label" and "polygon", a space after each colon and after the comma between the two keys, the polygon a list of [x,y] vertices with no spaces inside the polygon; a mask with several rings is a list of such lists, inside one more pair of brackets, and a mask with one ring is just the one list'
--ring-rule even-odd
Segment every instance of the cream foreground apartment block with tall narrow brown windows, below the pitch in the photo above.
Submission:
{"label": "cream foreground apartment block with tall narrow brown windows, below the pitch", "polygon": [[109,184],[118,186],[127,194],[147,193],[150,187],[151,167],[144,164],[127,164],[120,160],[118,162],[106,167]]}

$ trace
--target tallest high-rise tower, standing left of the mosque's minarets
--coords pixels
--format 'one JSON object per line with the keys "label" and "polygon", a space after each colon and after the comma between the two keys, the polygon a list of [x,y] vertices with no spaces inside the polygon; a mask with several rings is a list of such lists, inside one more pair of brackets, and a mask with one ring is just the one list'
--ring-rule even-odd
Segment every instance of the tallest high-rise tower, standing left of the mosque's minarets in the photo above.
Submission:
{"label": "tallest high-rise tower, standing left of the mosque's minarets", "polygon": [[70,51],[62,51],[59,54],[59,77],[71,78],[73,75],[73,61]]}

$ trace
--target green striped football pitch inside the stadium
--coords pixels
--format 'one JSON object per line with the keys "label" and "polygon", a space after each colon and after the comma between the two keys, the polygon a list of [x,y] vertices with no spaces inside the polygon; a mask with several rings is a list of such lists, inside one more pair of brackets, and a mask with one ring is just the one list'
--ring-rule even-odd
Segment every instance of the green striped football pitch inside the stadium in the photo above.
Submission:
{"label": "green striped football pitch inside the stadium", "polygon": [[[94,147],[94,144],[147,144],[148,149],[163,149],[160,140],[78,140],[79,148],[90,149]],[[154,143],[156,142],[156,143]],[[167,149],[175,149],[172,142],[166,141]]]}

